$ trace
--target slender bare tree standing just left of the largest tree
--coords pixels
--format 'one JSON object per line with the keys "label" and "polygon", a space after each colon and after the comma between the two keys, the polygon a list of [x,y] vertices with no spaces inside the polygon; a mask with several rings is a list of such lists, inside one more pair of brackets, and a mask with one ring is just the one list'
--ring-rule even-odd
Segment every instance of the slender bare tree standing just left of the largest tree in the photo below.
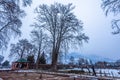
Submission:
{"label": "slender bare tree standing just left of the largest tree", "polygon": [[32,42],[35,44],[37,48],[37,61],[36,61],[36,68],[38,68],[39,64],[39,58],[41,56],[41,53],[43,51],[47,51],[46,49],[48,48],[48,36],[47,34],[43,33],[42,29],[40,28],[35,28],[31,32],[31,37],[32,37]]}

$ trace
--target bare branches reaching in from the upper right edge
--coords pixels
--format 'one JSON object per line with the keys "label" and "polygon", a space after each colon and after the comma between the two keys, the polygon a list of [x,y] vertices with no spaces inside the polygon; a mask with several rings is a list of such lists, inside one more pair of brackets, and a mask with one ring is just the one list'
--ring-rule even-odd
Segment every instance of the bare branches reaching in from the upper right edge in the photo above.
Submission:
{"label": "bare branches reaching in from the upper right edge", "polygon": [[[102,8],[105,11],[106,16],[108,13],[113,13],[114,15],[120,14],[120,0],[102,0]],[[112,20],[112,28],[115,29],[113,34],[120,33],[120,18]]]}

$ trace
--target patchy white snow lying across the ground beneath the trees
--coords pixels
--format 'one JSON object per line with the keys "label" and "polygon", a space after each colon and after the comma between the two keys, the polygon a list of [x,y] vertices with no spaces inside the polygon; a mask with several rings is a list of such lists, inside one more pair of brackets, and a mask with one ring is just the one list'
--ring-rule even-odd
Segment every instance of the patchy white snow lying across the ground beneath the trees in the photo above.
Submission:
{"label": "patchy white snow lying across the ground beneath the trees", "polygon": [[[0,70],[11,70],[11,68],[1,68]],[[73,69],[63,69],[63,70],[81,70],[80,68],[73,68]],[[62,71],[62,70],[60,70]],[[88,72],[87,69],[84,69],[85,72]],[[92,69],[90,69],[92,71]],[[111,76],[111,77],[119,77],[120,74],[118,73],[120,70],[118,69],[95,69],[97,76]],[[55,73],[55,72],[49,72],[49,71],[43,71],[43,70],[35,70],[35,69],[30,69],[30,70],[16,70],[16,72],[43,72],[43,73],[49,73],[49,74],[65,74],[71,77],[76,77],[76,76],[87,76],[87,77],[94,77],[95,76],[89,76],[89,75],[79,75],[79,74],[71,74],[71,73]],[[101,74],[100,74],[101,73]],[[2,80],[2,79],[0,79]]]}

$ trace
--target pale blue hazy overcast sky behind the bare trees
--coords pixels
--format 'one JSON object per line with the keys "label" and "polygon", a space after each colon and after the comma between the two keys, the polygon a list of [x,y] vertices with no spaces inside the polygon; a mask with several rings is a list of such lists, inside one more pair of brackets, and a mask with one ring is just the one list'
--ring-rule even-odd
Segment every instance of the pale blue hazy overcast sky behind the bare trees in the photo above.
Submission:
{"label": "pale blue hazy overcast sky behind the bare trees", "polygon": [[82,54],[96,54],[107,58],[120,58],[120,35],[112,35],[111,20],[115,16],[105,16],[101,9],[101,0],[33,0],[31,7],[25,8],[27,16],[23,19],[22,38],[30,39],[30,25],[34,21],[34,9],[40,4],[53,4],[55,2],[73,3],[74,14],[84,23],[84,32],[89,36],[89,43],[77,51]]}

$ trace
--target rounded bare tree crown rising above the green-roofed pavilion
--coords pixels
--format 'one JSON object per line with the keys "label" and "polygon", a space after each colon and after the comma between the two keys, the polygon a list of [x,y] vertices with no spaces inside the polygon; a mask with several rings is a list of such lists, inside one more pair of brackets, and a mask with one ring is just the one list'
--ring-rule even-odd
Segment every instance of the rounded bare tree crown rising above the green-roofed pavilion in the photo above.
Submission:
{"label": "rounded bare tree crown rising above the green-roofed pavilion", "polygon": [[34,45],[28,42],[27,39],[19,40],[16,44],[11,44],[10,57],[26,58],[28,55],[34,55],[36,52]]}

